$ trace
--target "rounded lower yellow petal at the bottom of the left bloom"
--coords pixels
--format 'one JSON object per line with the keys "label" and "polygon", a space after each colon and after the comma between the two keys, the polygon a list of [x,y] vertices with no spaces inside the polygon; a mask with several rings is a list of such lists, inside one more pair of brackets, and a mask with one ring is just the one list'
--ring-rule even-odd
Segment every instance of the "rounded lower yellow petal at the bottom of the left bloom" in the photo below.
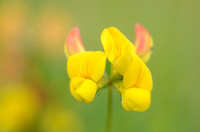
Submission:
{"label": "rounded lower yellow petal at the bottom of the left bloom", "polygon": [[78,101],[84,101],[89,104],[94,100],[97,85],[90,79],[76,77],[70,81],[70,91]]}

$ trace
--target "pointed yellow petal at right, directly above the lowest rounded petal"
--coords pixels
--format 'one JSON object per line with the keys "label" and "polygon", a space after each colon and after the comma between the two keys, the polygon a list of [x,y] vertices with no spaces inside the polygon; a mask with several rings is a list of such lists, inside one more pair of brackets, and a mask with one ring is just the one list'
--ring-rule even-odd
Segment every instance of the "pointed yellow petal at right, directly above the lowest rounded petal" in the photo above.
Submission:
{"label": "pointed yellow petal at right, directly above the lowest rounded petal", "polygon": [[136,87],[148,91],[152,90],[153,82],[151,73],[136,54],[132,56],[131,63],[124,74],[123,85],[124,88]]}

